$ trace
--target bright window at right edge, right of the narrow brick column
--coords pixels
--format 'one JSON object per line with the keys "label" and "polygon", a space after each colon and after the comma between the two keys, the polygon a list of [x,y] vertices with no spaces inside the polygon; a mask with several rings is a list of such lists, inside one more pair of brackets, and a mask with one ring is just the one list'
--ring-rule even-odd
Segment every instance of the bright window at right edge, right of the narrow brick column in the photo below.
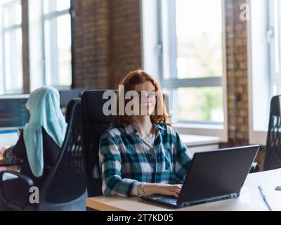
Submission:
{"label": "bright window at right edge, right of the narrow brick column", "polygon": [[251,143],[266,145],[270,100],[281,94],[281,2],[249,1],[249,99]]}

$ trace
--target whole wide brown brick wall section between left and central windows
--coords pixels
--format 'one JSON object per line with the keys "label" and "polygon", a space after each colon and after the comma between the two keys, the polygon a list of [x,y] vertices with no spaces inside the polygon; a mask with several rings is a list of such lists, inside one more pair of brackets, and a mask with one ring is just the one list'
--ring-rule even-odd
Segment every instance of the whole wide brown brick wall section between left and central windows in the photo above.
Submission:
{"label": "whole wide brown brick wall section between left and central windows", "polygon": [[116,89],[141,67],[139,0],[74,3],[74,87]]}

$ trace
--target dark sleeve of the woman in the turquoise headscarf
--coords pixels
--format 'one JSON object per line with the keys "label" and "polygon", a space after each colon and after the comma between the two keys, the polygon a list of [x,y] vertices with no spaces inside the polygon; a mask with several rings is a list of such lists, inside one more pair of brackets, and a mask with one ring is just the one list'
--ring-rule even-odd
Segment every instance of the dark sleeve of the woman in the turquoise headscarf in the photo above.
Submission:
{"label": "dark sleeve of the woman in the turquoise headscarf", "polygon": [[20,134],[20,138],[15,146],[8,148],[3,158],[8,164],[20,164],[25,158],[25,141],[23,140],[23,133]]}

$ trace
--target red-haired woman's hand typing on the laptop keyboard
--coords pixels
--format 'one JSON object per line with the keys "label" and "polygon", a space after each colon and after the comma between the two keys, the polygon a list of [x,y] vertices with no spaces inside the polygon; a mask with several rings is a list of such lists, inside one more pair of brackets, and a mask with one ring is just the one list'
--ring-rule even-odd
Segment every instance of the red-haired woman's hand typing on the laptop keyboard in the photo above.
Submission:
{"label": "red-haired woman's hand typing on the laptop keyboard", "polygon": [[182,184],[144,184],[143,192],[146,195],[161,194],[161,195],[171,195],[178,198],[181,192]]}

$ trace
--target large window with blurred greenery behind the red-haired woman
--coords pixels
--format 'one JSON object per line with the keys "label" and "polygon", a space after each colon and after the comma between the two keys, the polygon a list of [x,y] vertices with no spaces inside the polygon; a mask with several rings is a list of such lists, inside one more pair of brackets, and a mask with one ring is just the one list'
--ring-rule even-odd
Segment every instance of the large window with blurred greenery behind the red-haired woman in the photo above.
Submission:
{"label": "large window with blurred greenery behind the red-haired woman", "polygon": [[[153,5],[144,1],[143,67],[157,74],[168,94],[173,92],[169,112],[176,126],[188,128],[188,134],[213,134],[227,141],[223,2],[155,0]],[[152,68],[152,56],[158,58],[158,68]],[[206,132],[193,132],[194,127]]]}

